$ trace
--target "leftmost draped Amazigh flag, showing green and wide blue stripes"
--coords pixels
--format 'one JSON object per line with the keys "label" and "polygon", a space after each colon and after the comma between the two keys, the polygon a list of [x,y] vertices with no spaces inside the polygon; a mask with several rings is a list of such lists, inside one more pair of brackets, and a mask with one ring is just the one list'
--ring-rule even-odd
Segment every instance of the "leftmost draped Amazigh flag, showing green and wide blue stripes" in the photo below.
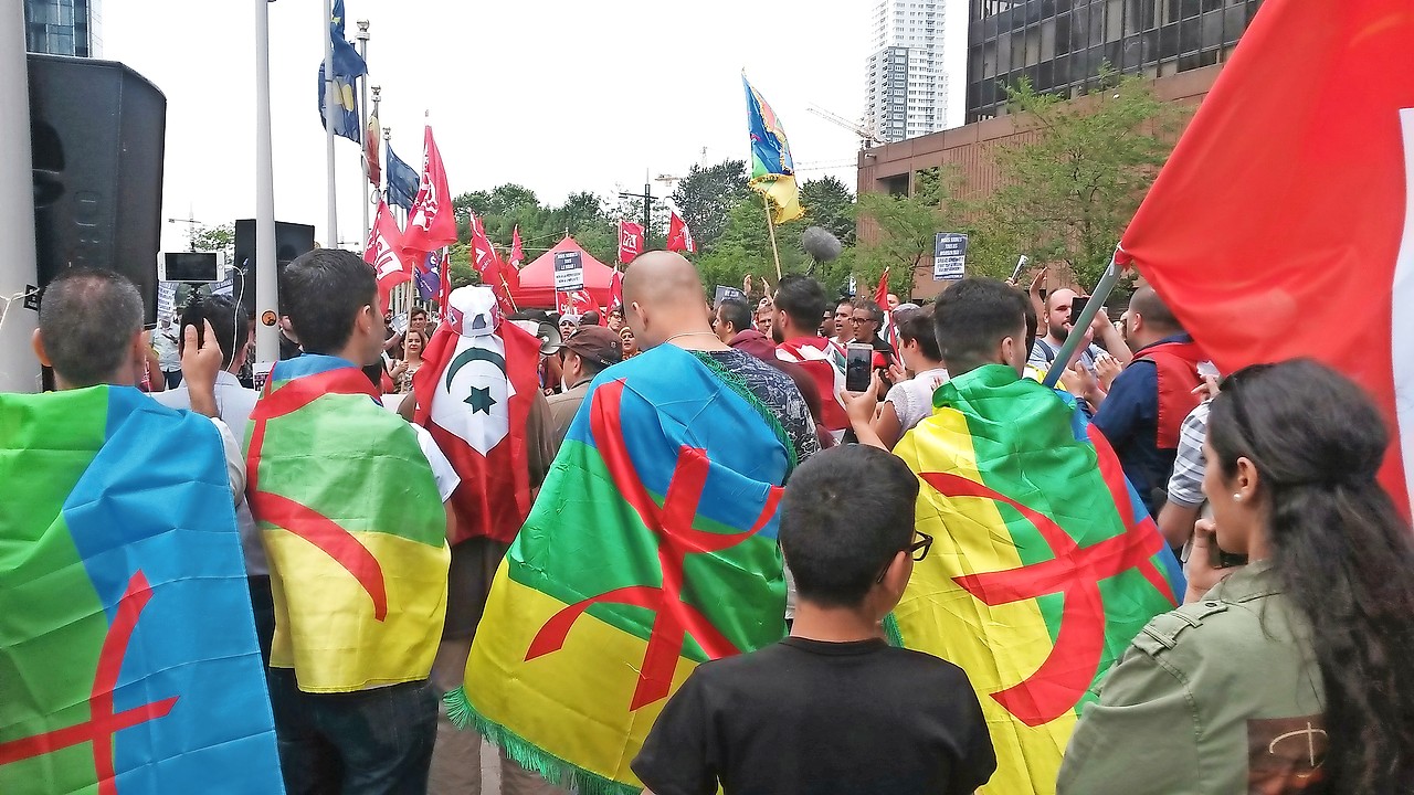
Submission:
{"label": "leftmost draped Amazigh flag, showing green and wide blue stripes", "polygon": [[0,792],[283,792],[215,426],[0,395]]}

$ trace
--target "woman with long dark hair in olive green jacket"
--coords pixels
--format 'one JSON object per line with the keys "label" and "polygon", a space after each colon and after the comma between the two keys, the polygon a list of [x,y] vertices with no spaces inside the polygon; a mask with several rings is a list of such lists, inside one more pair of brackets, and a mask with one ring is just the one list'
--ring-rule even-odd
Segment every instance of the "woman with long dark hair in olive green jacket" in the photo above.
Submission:
{"label": "woman with long dark hair in olive green jacket", "polygon": [[1250,563],[1138,634],[1062,795],[1414,792],[1414,535],[1376,482],[1389,441],[1324,365],[1223,382],[1203,492],[1216,547]]}

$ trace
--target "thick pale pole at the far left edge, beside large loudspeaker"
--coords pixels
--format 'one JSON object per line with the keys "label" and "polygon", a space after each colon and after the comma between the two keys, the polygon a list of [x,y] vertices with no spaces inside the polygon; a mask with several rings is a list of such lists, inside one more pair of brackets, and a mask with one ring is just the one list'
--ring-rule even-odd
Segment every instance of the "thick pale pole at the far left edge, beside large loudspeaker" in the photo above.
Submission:
{"label": "thick pale pole at the far left edge, beside large loudspeaker", "polygon": [[[10,44],[4,44],[8,41]],[[24,308],[40,286],[34,253],[34,175],[30,173],[30,76],[24,55],[24,10],[0,7],[0,392],[38,392],[40,359],[30,338],[40,315]],[[156,296],[143,296],[156,300]]]}

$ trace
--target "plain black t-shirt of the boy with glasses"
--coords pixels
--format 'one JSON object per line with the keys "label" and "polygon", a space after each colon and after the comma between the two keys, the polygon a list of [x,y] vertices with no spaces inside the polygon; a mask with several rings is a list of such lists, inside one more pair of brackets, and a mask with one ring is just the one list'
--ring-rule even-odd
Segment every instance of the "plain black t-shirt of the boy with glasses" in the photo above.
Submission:
{"label": "plain black t-shirt of the boy with glasses", "polygon": [[962,795],[997,757],[956,665],[786,638],[700,665],[632,767],[653,795]]}

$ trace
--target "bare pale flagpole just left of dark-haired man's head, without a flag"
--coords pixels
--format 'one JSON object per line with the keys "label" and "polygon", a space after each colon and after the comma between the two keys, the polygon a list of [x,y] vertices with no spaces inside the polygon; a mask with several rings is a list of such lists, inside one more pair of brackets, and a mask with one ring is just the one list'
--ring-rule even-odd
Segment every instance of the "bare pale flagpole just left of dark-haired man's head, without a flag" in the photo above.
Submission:
{"label": "bare pale flagpole just left of dark-haired man's head, without a flag", "polygon": [[[256,361],[280,358],[280,272],[274,263],[274,160],[270,144],[270,3],[255,0],[256,10],[256,294],[240,296],[256,307]],[[325,65],[328,68],[328,65]],[[331,127],[332,129],[332,127]],[[242,276],[242,291],[247,282]]]}

